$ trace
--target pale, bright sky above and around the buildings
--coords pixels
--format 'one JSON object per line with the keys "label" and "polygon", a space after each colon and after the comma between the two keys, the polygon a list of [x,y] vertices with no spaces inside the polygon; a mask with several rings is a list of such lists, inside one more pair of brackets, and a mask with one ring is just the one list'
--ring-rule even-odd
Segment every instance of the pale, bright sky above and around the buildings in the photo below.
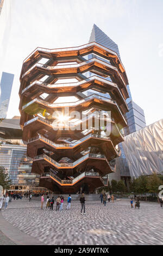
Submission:
{"label": "pale, bright sky above and around the buildings", "polygon": [[131,95],[147,125],[162,118],[162,0],[4,0],[0,72],[15,74],[7,118],[20,115],[23,60],[36,47],[86,44],[93,23],[118,45]]}

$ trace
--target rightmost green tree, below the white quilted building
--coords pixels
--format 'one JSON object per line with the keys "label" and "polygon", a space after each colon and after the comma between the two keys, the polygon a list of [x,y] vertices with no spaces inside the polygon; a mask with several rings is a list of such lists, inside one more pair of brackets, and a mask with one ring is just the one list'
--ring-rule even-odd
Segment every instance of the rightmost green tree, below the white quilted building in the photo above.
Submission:
{"label": "rightmost green tree, below the white quilted building", "polygon": [[147,188],[149,192],[158,193],[160,185],[162,185],[162,180],[157,174],[148,177]]}

